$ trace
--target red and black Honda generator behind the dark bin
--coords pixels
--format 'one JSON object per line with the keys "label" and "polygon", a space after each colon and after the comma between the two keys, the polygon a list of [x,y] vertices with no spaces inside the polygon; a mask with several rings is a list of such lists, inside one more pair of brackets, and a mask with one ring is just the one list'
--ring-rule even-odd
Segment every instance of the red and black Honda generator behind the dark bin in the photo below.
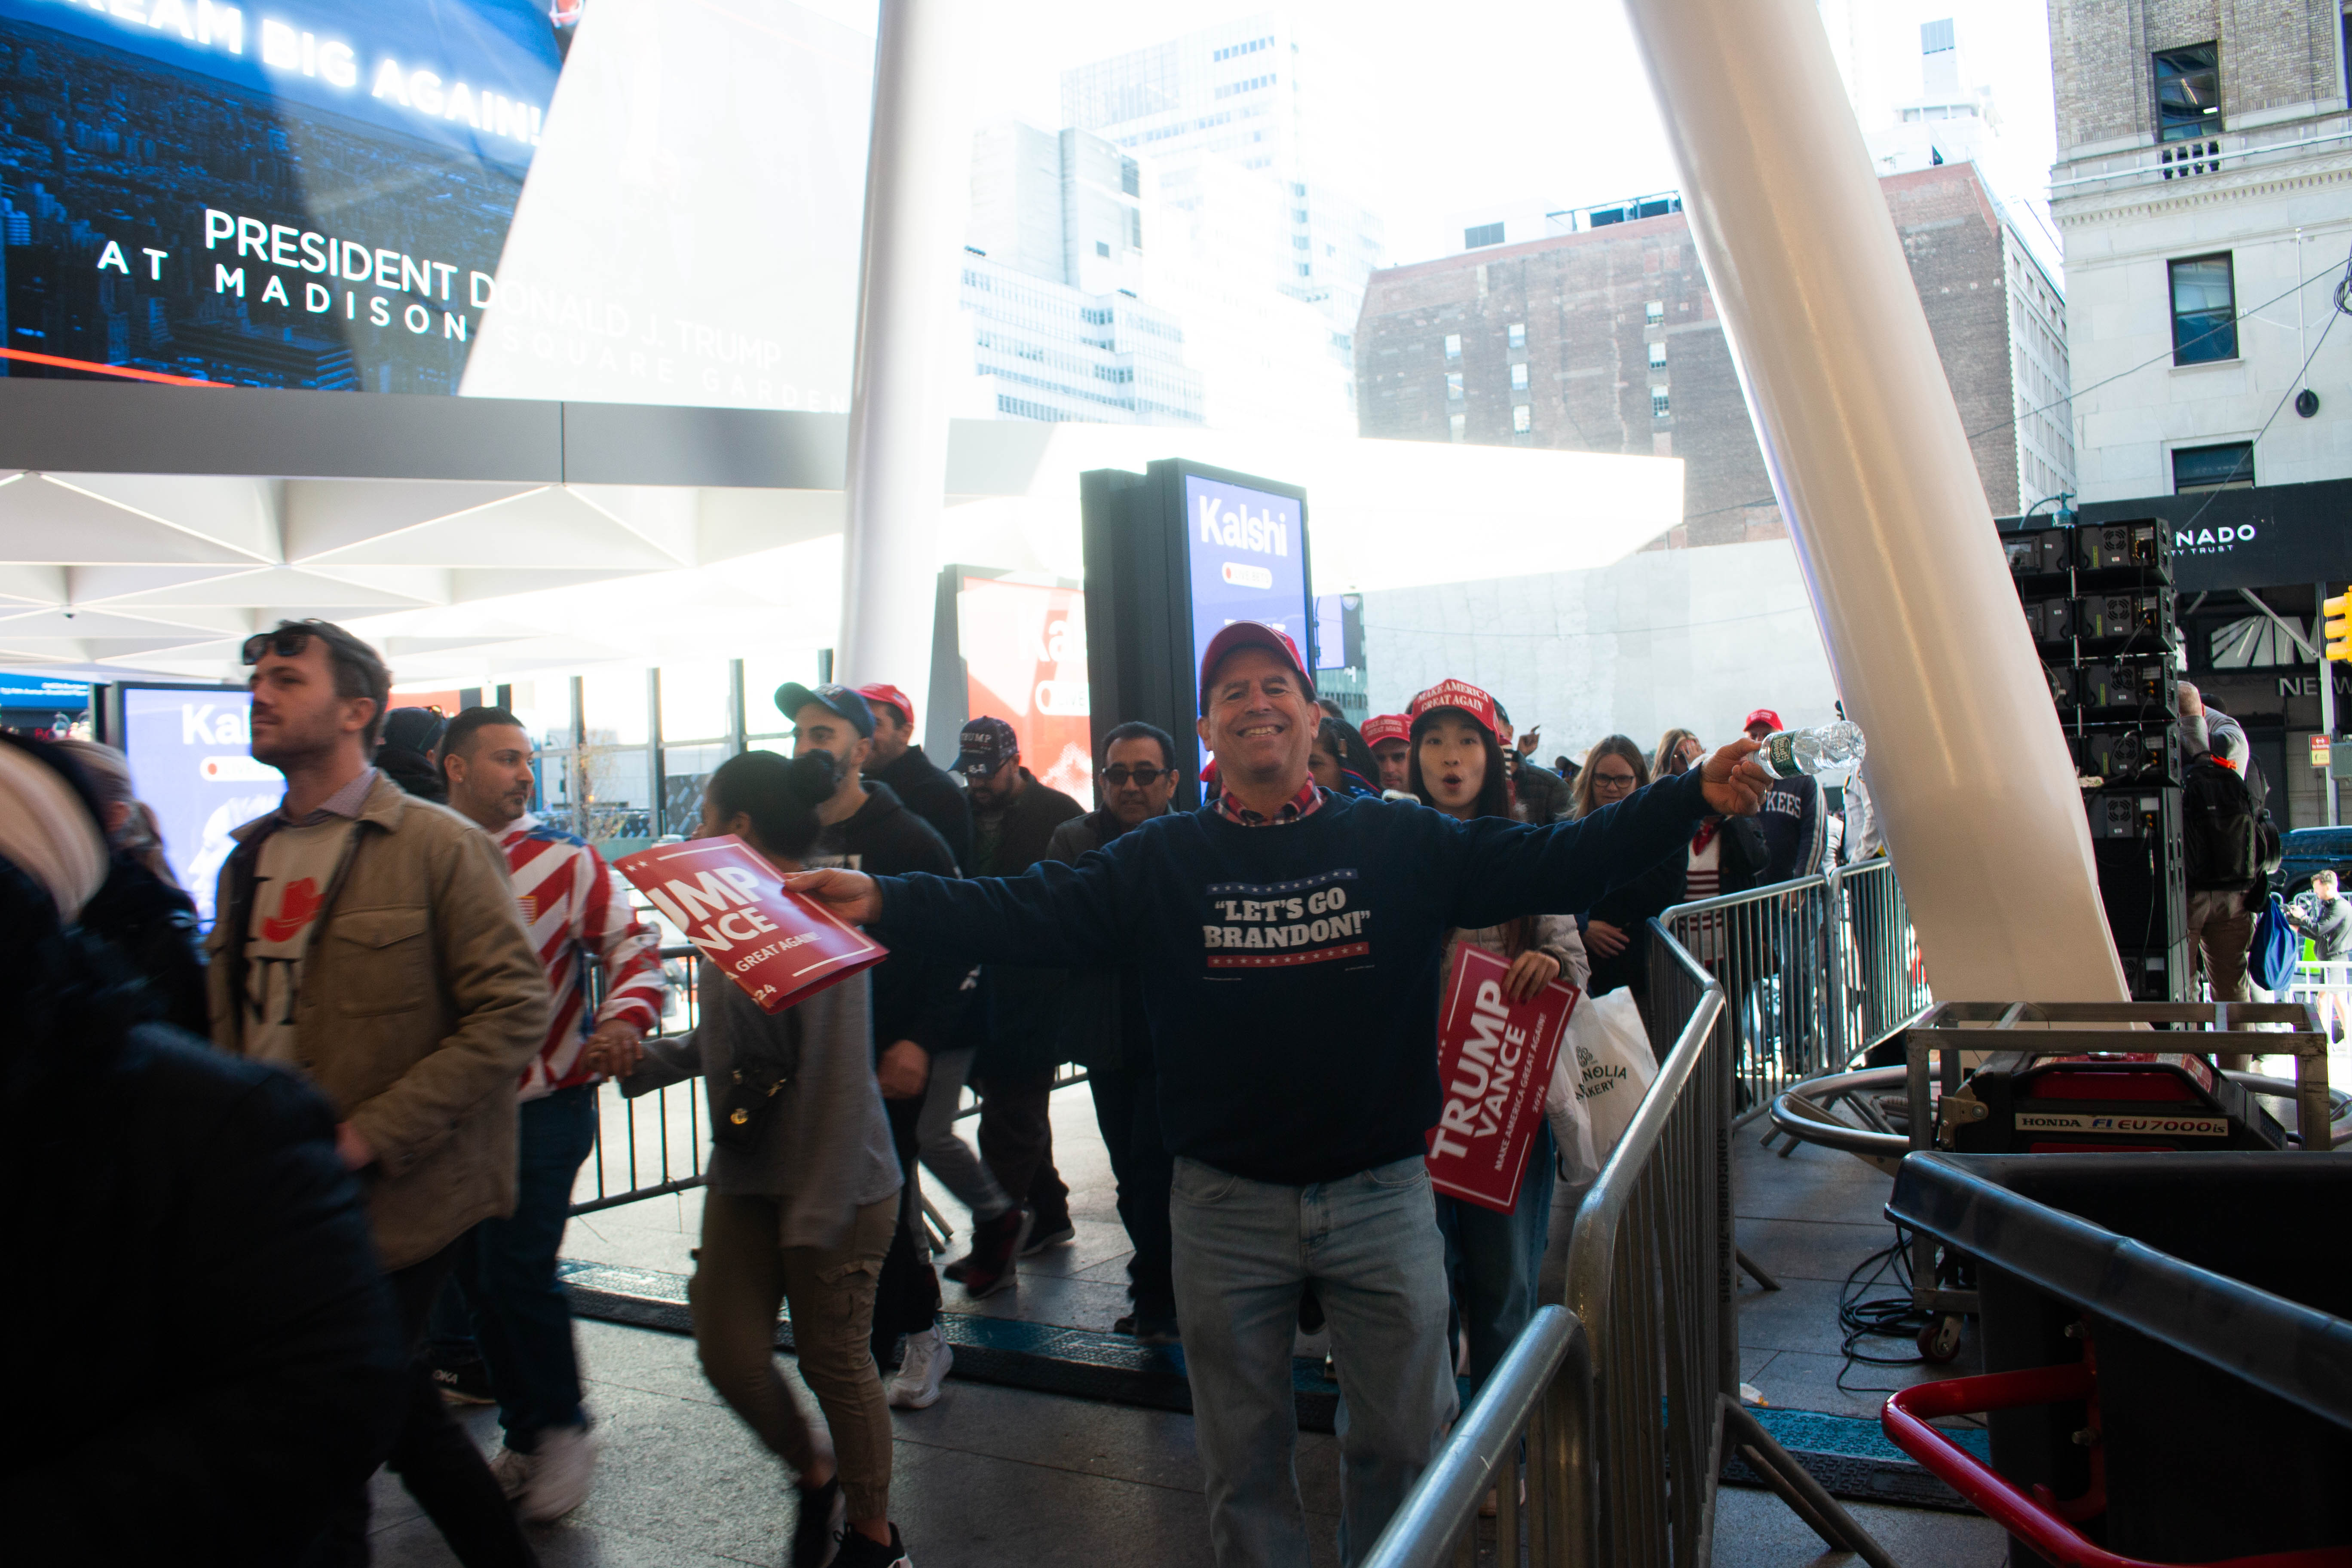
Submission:
{"label": "red and black Honda generator behind the dark bin", "polygon": [[2244,1086],[2211,1058],[2178,1051],[1997,1051],[1943,1095],[1938,1121],[1938,1143],[1962,1154],[2288,1147],[2286,1128]]}

